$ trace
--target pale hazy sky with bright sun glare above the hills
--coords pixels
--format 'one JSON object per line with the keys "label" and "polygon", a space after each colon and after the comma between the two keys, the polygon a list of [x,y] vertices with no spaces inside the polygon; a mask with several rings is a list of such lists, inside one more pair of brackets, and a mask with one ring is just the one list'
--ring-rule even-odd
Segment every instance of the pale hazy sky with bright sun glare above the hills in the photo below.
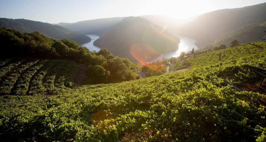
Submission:
{"label": "pale hazy sky with bright sun glare above the hills", "polygon": [[159,14],[186,20],[206,12],[266,0],[0,0],[1,18],[59,23]]}

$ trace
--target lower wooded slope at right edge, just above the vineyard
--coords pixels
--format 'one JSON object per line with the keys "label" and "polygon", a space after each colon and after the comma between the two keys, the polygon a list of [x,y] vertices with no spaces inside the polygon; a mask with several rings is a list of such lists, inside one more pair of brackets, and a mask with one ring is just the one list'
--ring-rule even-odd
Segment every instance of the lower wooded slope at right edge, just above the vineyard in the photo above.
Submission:
{"label": "lower wooded slope at right edge, just above the vineyard", "polygon": [[223,34],[213,44],[217,46],[220,44],[226,44],[228,46],[234,39],[237,39],[240,44],[261,41],[265,30],[266,21],[257,22]]}

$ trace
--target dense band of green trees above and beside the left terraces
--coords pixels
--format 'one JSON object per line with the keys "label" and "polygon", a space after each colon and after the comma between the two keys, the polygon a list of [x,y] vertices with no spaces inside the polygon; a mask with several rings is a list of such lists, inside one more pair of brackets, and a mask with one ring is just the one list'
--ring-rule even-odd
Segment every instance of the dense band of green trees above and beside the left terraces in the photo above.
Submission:
{"label": "dense band of green trees above and beside the left terraces", "polygon": [[[90,84],[116,83],[140,78],[137,63],[115,57],[107,49],[91,52],[69,39],[56,40],[40,34],[0,28],[1,58],[35,57],[70,59],[88,66]],[[91,81],[93,80],[93,81]]]}

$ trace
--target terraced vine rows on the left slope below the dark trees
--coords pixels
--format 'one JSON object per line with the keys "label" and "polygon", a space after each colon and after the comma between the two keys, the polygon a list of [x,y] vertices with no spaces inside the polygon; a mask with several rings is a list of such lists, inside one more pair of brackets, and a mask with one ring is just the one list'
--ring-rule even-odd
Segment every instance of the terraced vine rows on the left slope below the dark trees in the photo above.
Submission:
{"label": "terraced vine rows on the left slope below the dark trees", "polygon": [[0,62],[1,96],[50,96],[57,88],[76,85],[72,80],[78,67],[72,61],[5,59]]}

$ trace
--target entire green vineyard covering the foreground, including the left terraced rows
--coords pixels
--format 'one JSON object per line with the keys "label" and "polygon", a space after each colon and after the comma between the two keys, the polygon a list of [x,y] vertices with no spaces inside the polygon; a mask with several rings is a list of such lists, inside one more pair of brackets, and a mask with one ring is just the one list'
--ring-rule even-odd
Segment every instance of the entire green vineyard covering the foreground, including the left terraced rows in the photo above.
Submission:
{"label": "entire green vineyard covering the foreground, including the left terraced rows", "polygon": [[1,141],[266,141],[265,104],[257,103],[266,83],[252,71],[266,74],[265,42],[176,60],[170,70],[182,67],[78,86],[69,60],[3,59]]}

